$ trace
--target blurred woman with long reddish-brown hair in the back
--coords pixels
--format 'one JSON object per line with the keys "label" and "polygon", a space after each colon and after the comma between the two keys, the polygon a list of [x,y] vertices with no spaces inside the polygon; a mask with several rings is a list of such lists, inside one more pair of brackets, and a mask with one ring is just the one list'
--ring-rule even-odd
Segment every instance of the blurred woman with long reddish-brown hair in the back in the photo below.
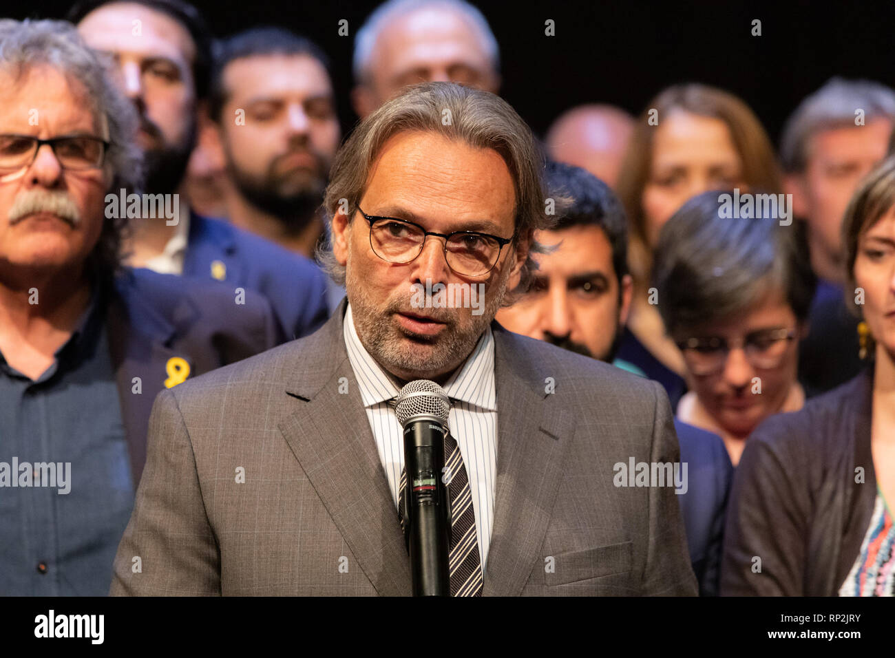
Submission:
{"label": "blurred woman with long reddish-brown hair in the back", "polygon": [[773,145],[762,123],[727,91],[695,83],[661,91],[635,122],[618,174],[634,278],[618,358],[659,381],[672,409],[686,389],[686,363],[662,330],[661,304],[655,304],[649,290],[656,242],[661,227],[685,201],[721,187],[782,192]]}

